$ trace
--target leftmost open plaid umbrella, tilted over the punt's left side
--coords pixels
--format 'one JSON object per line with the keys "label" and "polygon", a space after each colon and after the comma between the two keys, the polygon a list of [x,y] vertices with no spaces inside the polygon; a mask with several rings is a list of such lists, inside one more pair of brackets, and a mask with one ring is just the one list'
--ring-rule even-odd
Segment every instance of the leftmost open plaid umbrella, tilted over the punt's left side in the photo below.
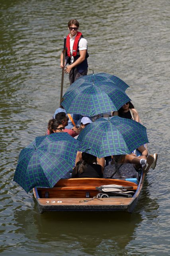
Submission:
{"label": "leftmost open plaid umbrella, tilted over the punt's left side", "polygon": [[52,188],[75,166],[79,144],[66,132],[36,137],[20,152],[14,181],[27,193],[35,186]]}

